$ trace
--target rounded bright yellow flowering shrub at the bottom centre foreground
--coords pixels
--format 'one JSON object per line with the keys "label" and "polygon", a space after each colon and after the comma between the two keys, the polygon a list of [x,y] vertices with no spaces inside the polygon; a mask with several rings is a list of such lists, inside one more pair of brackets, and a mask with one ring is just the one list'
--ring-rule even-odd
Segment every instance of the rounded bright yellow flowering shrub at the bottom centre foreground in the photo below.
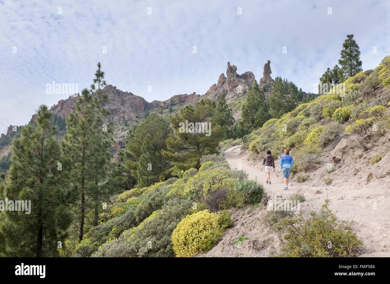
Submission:
{"label": "rounded bright yellow flowering shrub at the bottom centre foreground", "polygon": [[172,233],[173,250],[177,257],[191,257],[212,249],[222,236],[220,216],[209,210],[187,215]]}

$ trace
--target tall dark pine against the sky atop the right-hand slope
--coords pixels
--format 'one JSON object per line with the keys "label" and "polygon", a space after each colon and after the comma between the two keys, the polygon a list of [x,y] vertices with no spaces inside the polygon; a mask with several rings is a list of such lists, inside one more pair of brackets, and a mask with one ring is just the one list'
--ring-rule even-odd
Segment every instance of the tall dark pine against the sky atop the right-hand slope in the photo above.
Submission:
{"label": "tall dark pine against the sky atop the right-hand slope", "polygon": [[344,77],[348,78],[362,72],[362,61],[360,60],[360,49],[353,34],[347,35],[347,39],[342,44],[339,64],[342,66]]}

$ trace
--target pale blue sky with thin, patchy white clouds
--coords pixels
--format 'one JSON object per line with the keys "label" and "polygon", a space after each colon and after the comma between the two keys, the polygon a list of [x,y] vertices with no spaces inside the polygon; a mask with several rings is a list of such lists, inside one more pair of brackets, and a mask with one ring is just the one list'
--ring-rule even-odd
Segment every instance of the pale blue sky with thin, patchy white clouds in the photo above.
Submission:
{"label": "pale blue sky with thin, patchy white clouds", "polygon": [[270,60],[272,78],[313,92],[347,34],[363,70],[378,66],[389,19],[388,0],[0,0],[0,133],[69,97],[47,84],[89,87],[97,62],[108,84],[147,101],[204,94],[228,61],[259,81]]}

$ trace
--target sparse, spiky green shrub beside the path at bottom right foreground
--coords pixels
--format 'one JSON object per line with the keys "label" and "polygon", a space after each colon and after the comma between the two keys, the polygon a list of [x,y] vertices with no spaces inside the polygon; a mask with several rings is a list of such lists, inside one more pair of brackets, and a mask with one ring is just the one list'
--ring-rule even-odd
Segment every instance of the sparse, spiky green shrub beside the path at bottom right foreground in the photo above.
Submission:
{"label": "sparse, spiky green shrub beside the path at bottom right foreground", "polygon": [[282,219],[278,224],[285,240],[282,257],[351,257],[363,245],[346,221],[340,221],[326,200],[319,213]]}

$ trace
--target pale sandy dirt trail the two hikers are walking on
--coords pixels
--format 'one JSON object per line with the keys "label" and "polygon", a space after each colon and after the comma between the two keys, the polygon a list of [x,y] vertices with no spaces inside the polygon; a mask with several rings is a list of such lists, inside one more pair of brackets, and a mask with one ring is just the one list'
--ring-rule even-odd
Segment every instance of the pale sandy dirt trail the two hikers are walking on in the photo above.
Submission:
{"label": "pale sandy dirt trail the two hikers are walking on", "polygon": [[[225,151],[225,159],[232,169],[245,170],[249,179],[257,178],[268,192],[281,193],[284,199],[291,193],[302,194],[310,208],[314,210],[321,208],[324,199],[330,199],[330,208],[333,211],[337,210],[339,218],[354,220],[353,226],[364,243],[364,250],[368,253],[381,252],[381,256],[390,256],[390,197],[387,185],[356,188],[351,185],[352,179],[344,176],[340,177],[345,179],[342,186],[326,186],[317,175],[317,178],[312,178],[311,183],[295,183],[290,179],[291,185],[289,184],[288,190],[283,190],[285,185],[279,160],[275,160],[275,172],[271,172],[271,185],[268,185],[263,161],[249,161],[245,152],[241,152],[241,147],[234,146]],[[316,186],[313,186],[314,184]],[[373,204],[376,206],[375,210]]]}

